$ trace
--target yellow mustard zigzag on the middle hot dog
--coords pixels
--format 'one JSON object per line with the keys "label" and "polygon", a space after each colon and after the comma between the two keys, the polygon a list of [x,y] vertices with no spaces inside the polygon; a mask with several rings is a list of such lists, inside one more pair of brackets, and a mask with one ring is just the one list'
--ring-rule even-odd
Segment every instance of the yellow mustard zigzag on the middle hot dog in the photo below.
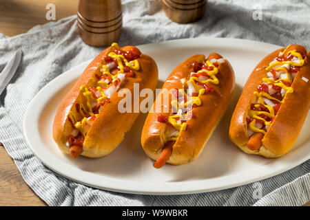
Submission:
{"label": "yellow mustard zigzag on the middle hot dog", "polygon": [[[189,97],[189,96],[187,96],[187,93],[184,91],[184,89],[178,89],[178,92],[180,94],[182,94],[183,97],[187,98],[187,102],[179,103],[178,100],[172,100],[171,105],[174,109],[176,109],[176,112],[178,112],[178,109],[185,108],[189,104],[196,104],[197,106],[200,106],[202,104],[200,96],[205,94],[205,89],[200,88],[200,86],[195,83],[195,80],[198,81],[199,83],[203,83],[203,84],[212,83],[214,85],[218,85],[219,81],[218,81],[218,78],[216,78],[216,74],[218,73],[218,68],[216,66],[214,66],[210,61],[206,61],[205,63],[209,67],[213,67],[213,69],[211,71],[207,71],[206,69],[200,69],[197,72],[197,74],[199,74],[201,72],[205,72],[207,74],[207,76],[209,76],[210,78],[208,78],[207,80],[200,80],[196,76],[191,76],[189,78],[189,80],[187,80],[187,83],[191,83],[193,85],[193,87],[196,89],[196,91],[198,91],[198,96]],[[189,114],[189,113],[190,113],[190,111],[188,111],[187,113],[181,113],[181,115],[183,118],[187,118],[187,114]],[[177,122],[176,118],[179,118],[179,117],[180,117],[180,115],[169,115],[168,122],[170,124],[172,124],[172,126],[174,126],[174,129],[176,129],[178,131],[185,131],[186,126],[187,126],[187,122]],[[180,134],[180,132],[177,133],[176,137],[167,138],[168,133],[165,132],[165,142],[176,141],[179,134]]]}

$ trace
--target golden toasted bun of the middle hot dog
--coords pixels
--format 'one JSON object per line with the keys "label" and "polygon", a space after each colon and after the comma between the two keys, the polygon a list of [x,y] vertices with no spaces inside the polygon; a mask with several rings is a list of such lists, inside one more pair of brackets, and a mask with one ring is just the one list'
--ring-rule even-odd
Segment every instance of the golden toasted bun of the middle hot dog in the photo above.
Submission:
{"label": "golden toasted bun of the middle hot dog", "polygon": [[[211,54],[212,58],[222,58],[219,54]],[[205,61],[205,55],[198,54],[191,56],[186,61],[178,65],[176,69],[168,76],[165,81],[161,93],[158,94],[152,112],[147,115],[147,119],[143,126],[141,144],[145,153],[152,159],[158,159],[164,146],[163,132],[167,124],[158,122],[158,115],[169,115],[170,113],[156,112],[156,102],[160,102],[160,98],[167,98],[167,93],[163,89],[183,89],[182,79],[188,80],[190,73],[193,72],[194,61]],[[193,109],[194,117],[187,120],[189,129],[181,131],[176,143],[172,147],[172,155],[167,163],[179,165],[191,162],[198,157],[203,150],[207,140],[213,133],[216,125],[220,121],[229,99],[234,91],[234,71],[228,61],[224,61],[218,67],[216,77],[219,80],[218,85],[211,84],[214,92],[211,94],[200,96],[202,104]],[[162,111],[164,106],[161,107]]]}

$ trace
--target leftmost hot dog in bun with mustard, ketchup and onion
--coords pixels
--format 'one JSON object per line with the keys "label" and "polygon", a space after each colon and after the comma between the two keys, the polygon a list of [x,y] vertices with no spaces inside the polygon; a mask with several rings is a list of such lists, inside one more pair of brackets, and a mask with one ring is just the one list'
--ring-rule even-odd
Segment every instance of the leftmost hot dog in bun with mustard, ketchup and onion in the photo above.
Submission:
{"label": "leftmost hot dog in bun with mustard, ketchup and onion", "polygon": [[[88,65],[56,111],[53,137],[63,153],[73,159],[103,157],[121,143],[139,112],[118,111],[118,91],[155,89],[155,61],[136,47],[113,43]],[[140,98],[141,102],[141,98]]]}

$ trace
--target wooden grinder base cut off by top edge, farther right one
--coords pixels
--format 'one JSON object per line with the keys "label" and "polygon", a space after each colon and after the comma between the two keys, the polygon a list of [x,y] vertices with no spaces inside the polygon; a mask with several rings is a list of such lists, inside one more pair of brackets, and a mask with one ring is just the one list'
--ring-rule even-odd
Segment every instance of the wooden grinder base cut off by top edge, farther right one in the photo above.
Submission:
{"label": "wooden grinder base cut off by top edge, farther right one", "polygon": [[191,23],[205,14],[207,0],[162,0],[169,19],[177,23]]}

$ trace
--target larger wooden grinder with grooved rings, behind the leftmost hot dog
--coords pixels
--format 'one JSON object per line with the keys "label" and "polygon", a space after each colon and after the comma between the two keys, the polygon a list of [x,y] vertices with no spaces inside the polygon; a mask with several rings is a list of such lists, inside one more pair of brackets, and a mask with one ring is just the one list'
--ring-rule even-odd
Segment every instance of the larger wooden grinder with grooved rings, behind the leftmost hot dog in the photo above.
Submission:
{"label": "larger wooden grinder with grooved rings, behind the leftmost hot dog", "polygon": [[85,43],[95,47],[111,45],[122,31],[121,0],[80,0],[77,19]]}

